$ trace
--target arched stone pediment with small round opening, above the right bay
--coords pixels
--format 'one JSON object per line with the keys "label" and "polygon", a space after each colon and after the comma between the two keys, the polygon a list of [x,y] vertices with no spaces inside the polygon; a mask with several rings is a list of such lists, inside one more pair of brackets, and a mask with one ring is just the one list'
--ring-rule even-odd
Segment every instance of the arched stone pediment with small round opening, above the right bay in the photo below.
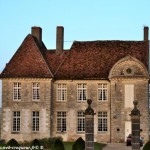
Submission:
{"label": "arched stone pediment with small round opening, above the right bay", "polygon": [[127,56],[112,67],[109,78],[114,77],[148,77],[148,71],[142,62],[134,57]]}

